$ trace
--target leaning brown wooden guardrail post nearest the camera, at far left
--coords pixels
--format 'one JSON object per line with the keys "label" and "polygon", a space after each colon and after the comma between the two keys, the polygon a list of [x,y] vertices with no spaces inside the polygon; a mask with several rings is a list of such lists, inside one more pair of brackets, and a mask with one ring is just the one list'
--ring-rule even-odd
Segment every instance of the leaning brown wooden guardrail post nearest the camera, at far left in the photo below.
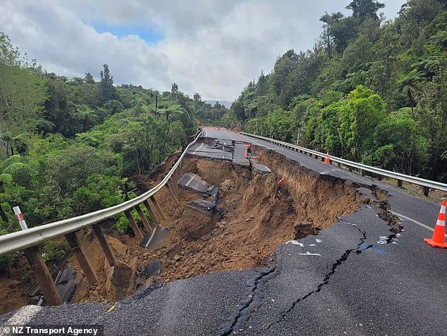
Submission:
{"label": "leaning brown wooden guardrail post nearest the camera, at far left", "polygon": [[53,278],[51,278],[51,274],[49,273],[47,264],[42,258],[42,254],[40,254],[39,248],[34,246],[28,247],[25,249],[25,256],[28,263],[30,263],[32,274],[34,274],[34,278],[39,285],[47,304],[49,306],[63,304],[61,295],[57,291]]}

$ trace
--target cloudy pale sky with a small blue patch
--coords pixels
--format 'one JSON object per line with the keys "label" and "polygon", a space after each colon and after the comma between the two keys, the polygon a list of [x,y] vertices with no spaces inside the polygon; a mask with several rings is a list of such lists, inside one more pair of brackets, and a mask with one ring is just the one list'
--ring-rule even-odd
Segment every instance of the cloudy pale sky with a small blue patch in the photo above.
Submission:
{"label": "cloudy pale sky with a small blue patch", "polygon": [[[405,0],[382,0],[392,19]],[[0,31],[49,72],[235,100],[289,49],[312,49],[350,0],[0,0]]]}

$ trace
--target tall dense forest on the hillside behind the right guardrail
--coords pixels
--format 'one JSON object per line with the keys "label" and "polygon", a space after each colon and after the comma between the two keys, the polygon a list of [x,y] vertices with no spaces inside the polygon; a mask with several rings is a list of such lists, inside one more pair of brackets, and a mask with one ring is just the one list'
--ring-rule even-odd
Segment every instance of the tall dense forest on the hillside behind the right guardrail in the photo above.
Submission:
{"label": "tall dense forest on the hillside behind the right guardrail", "polygon": [[312,50],[289,50],[249,82],[226,126],[447,182],[447,1],[354,0],[322,13]]}

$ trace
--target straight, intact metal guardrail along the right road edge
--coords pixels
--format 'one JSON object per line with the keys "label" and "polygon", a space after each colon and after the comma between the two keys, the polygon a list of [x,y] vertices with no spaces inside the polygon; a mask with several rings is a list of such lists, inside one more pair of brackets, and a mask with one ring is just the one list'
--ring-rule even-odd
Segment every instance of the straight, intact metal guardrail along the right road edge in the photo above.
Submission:
{"label": "straight, intact metal guardrail along the right road edge", "polygon": [[[268,142],[272,142],[274,144],[278,144],[283,147],[295,149],[295,150],[301,151],[302,153],[318,156],[320,158],[326,158],[326,156],[327,156],[327,154],[320,153],[319,151],[314,151],[312,149],[307,149],[305,147],[296,146],[295,144],[289,144],[288,142],[282,142],[282,141],[279,141],[276,139],[270,139],[269,137],[262,137],[260,135],[252,135],[250,133],[245,133],[245,132],[240,132],[240,133],[243,135],[247,135],[249,137],[255,137],[257,139],[262,139],[262,140],[265,140]],[[425,188],[437,189],[437,190],[441,190],[443,192],[447,192],[447,185],[444,183],[441,183],[441,182],[425,180],[423,178],[415,178],[414,176],[405,175],[405,174],[401,174],[401,173],[394,173],[389,170],[376,168],[376,167],[372,167],[372,166],[367,166],[362,163],[345,160],[344,158],[338,158],[336,156],[331,156],[331,155],[329,156],[329,160],[336,162],[336,163],[343,164],[343,165],[351,167],[351,168],[359,169],[360,171],[368,171],[368,172],[374,173],[376,175],[386,176],[387,178],[394,178],[398,181],[410,182],[410,183],[413,183],[415,185],[420,185]],[[427,189],[427,194],[428,194],[428,189]]]}

